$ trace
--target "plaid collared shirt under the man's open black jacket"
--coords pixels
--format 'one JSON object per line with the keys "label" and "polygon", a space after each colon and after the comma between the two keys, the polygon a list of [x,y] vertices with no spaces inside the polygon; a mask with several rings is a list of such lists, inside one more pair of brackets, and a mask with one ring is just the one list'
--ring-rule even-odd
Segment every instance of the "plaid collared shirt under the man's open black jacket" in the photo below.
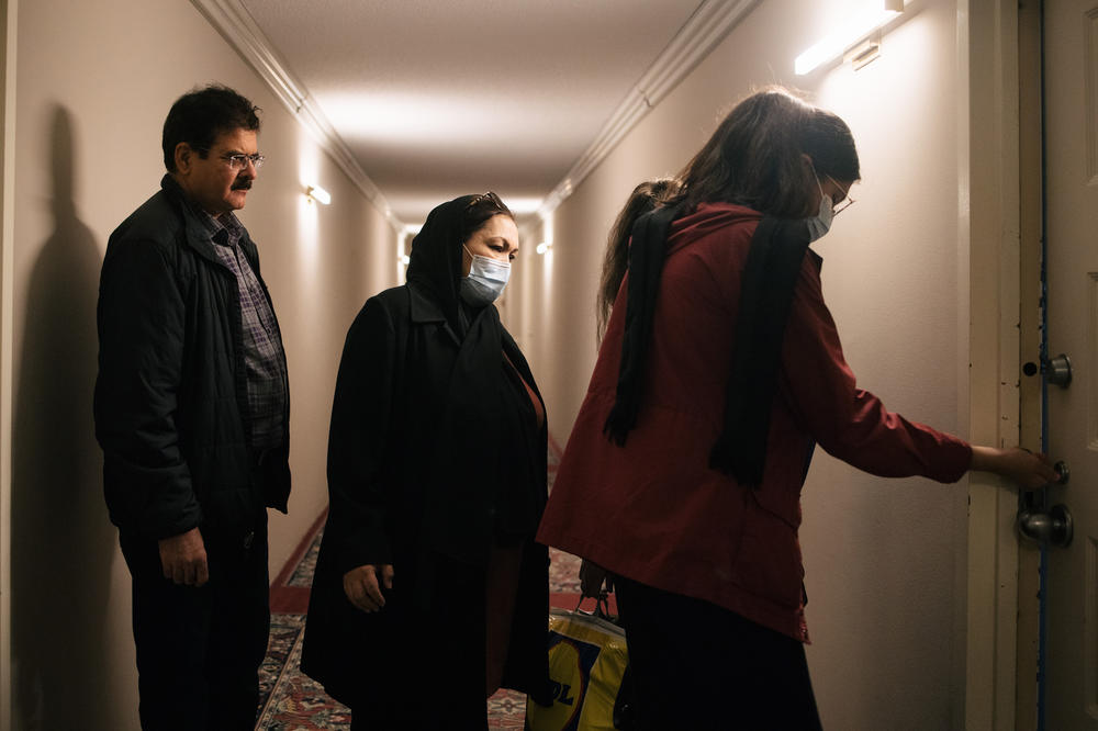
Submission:
{"label": "plaid collared shirt under the man's open black jacket", "polygon": [[250,412],[246,418],[250,426],[251,447],[260,453],[282,443],[287,402],[282,339],[264,288],[240,251],[244,226],[239,220],[231,212],[220,218],[203,211],[197,213],[210,232],[217,256],[236,274]]}

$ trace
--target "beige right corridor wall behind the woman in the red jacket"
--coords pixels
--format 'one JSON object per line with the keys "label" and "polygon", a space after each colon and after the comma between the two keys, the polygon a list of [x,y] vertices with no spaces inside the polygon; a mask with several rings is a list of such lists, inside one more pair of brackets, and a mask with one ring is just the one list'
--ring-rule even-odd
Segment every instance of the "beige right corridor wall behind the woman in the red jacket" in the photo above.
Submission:
{"label": "beige right corridor wall behind the woman in the red jacket", "polygon": [[[770,82],[805,88],[859,143],[858,204],[815,248],[860,383],[910,418],[963,429],[957,8],[909,5],[877,61],[797,78],[793,59],[850,3],[761,3],[556,211],[551,254],[520,262],[528,271],[508,326],[531,356],[559,442],[594,363],[597,271],[618,207],[640,180],[676,172],[730,103]],[[960,728],[964,486],[879,480],[818,452],[804,509],[808,656],[825,727]]]}

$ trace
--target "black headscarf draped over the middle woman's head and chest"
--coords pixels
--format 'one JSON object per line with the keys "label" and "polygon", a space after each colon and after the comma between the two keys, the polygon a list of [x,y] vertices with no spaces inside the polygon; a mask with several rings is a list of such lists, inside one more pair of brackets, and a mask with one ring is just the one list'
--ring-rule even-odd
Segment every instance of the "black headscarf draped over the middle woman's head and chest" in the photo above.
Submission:
{"label": "black headscarf draped over the middle woman's head and chest", "polygon": [[460,342],[434,449],[425,454],[432,476],[424,536],[434,550],[473,564],[486,561],[493,540],[533,536],[545,492],[533,407],[522,382],[504,370],[504,353],[529,378],[526,361],[495,305],[471,307],[460,296],[461,245],[478,198],[463,195],[430,212],[412,243],[407,271],[410,286],[441,310]]}

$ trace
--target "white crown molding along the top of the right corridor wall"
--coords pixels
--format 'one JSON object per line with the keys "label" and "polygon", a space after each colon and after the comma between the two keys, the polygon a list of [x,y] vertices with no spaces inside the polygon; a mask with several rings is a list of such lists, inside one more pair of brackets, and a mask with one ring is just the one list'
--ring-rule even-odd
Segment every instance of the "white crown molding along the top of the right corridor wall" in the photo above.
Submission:
{"label": "white crown molding along the top of the right corridor wall", "polygon": [[595,140],[546,196],[538,215],[551,215],[629,131],[677,87],[760,1],[705,0],[698,5],[603,125]]}

